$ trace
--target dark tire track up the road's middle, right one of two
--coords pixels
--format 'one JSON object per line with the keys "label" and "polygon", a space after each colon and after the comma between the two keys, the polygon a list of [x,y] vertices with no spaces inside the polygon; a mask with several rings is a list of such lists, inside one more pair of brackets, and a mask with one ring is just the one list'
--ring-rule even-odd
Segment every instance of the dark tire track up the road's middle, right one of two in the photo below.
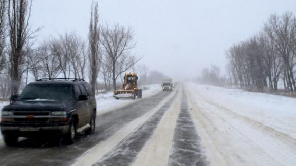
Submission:
{"label": "dark tire track up the road's middle, right one of two", "polygon": [[207,165],[206,156],[201,152],[200,137],[189,113],[187,96],[184,90],[169,165]]}

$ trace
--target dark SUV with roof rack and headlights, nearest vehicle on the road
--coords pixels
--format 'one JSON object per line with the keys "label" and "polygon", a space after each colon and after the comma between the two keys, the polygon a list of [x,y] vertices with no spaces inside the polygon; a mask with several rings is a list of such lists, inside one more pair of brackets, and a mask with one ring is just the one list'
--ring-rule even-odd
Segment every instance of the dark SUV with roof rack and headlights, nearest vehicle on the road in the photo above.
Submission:
{"label": "dark SUV with roof rack and headlights, nearest vehicle on the road", "polygon": [[95,96],[83,79],[40,79],[11,97],[2,110],[1,132],[8,146],[18,137],[48,134],[72,144],[77,132],[94,133],[95,120]]}

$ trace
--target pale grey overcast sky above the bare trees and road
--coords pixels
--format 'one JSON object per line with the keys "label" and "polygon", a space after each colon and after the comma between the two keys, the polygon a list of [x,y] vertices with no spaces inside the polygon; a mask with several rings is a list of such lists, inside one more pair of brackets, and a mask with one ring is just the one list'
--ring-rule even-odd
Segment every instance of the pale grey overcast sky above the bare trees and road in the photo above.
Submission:
{"label": "pale grey overcast sky above the bare trees and road", "polygon": [[[34,0],[32,28],[44,27],[37,41],[76,31],[87,39],[91,0]],[[254,35],[273,13],[296,12],[295,0],[99,0],[101,24],[135,30],[134,53],[141,64],[175,79],[196,77],[217,64],[225,50]]]}

